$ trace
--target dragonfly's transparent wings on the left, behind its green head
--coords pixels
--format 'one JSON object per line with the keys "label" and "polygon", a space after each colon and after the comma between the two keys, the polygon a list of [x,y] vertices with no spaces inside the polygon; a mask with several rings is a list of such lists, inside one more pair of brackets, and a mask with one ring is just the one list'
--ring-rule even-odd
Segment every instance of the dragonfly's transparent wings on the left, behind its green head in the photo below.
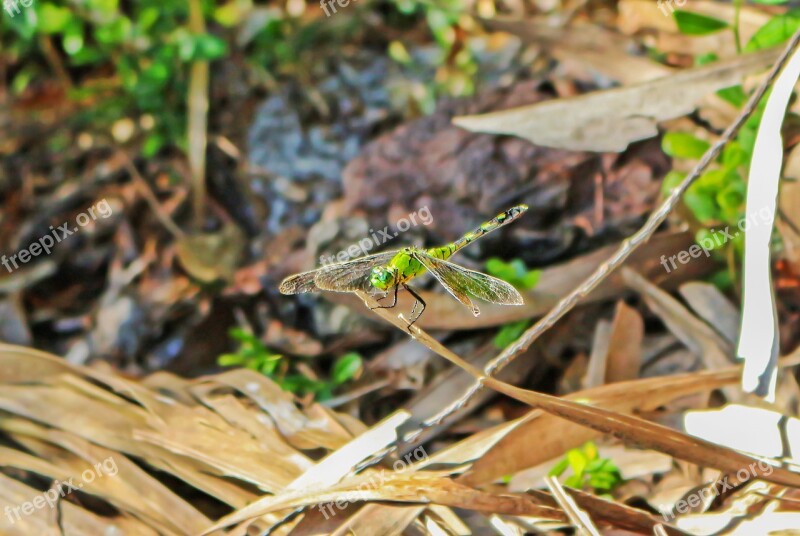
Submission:
{"label": "dragonfly's transparent wings on the left, behind its green head", "polygon": [[389,264],[397,254],[387,251],[367,255],[360,259],[329,264],[316,270],[289,276],[280,286],[282,294],[299,294],[315,290],[331,290],[334,292],[350,292],[353,290],[369,290],[369,274],[375,266]]}

